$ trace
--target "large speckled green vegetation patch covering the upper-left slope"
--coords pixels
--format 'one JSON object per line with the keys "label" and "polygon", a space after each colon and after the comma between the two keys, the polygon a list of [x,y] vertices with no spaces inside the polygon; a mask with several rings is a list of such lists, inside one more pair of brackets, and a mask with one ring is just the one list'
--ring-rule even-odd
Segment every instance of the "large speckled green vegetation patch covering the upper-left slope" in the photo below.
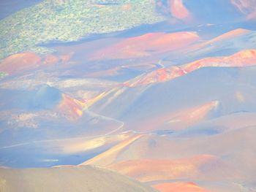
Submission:
{"label": "large speckled green vegetation patch covering the upper-left slope", "polygon": [[73,42],[162,20],[154,0],[42,1],[0,21],[0,59],[25,50],[48,53],[53,50],[37,45]]}

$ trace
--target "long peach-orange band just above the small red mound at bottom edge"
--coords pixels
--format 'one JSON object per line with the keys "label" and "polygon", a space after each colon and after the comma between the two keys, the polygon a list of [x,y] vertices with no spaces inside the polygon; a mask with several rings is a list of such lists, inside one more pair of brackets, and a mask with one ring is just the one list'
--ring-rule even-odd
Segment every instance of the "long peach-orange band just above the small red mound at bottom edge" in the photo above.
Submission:
{"label": "long peach-orange band just above the small red mound at bottom edge", "polygon": [[[108,166],[108,168],[141,182],[178,179],[209,180],[210,178],[214,180],[217,177],[230,177],[226,172],[225,164],[214,155],[198,155],[176,160],[139,159],[120,161]],[[218,176],[211,177],[211,174]]]}

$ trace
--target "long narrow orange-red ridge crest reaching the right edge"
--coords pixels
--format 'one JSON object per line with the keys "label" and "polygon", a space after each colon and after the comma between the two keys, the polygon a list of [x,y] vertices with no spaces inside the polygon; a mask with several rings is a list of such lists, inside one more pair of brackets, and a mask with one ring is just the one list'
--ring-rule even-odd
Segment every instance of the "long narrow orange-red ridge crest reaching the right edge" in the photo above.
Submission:
{"label": "long narrow orange-red ridge crest reaching the right edge", "polygon": [[157,69],[153,72],[142,74],[134,80],[126,82],[125,85],[135,87],[138,85],[148,85],[154,82],[165,82],[184,76],[203,67],[244,67],[255,65],[256,50],[242,50],[238,53],[225,57],[202,58],[181,66],[170,66]]}

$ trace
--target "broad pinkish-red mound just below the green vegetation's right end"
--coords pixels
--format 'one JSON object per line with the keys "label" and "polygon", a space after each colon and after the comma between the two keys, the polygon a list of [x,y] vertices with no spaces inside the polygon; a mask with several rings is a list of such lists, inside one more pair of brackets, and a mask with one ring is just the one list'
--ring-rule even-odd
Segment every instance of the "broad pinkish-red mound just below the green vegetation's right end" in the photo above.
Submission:
{"label": "broad pinkish-red mound just below the green vegetation's right end", "polygon": [[156,53],[178,50],[200,37],[195,32],[150,33],[124,39],[116,45],[105,47],[94,53],[94,59],[140,58]]}

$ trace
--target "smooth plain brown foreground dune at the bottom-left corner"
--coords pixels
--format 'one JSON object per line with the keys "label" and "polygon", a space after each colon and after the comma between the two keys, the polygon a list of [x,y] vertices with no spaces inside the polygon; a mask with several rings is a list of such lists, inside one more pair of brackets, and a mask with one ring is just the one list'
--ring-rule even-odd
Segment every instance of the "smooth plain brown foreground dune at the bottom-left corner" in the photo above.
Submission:
{"label": "smooth plain brown foreground dune at the bottom-left corner", "polygon": [[107,169],[59,166],[48,169],[0,169],[0,191],[154,191]]}

